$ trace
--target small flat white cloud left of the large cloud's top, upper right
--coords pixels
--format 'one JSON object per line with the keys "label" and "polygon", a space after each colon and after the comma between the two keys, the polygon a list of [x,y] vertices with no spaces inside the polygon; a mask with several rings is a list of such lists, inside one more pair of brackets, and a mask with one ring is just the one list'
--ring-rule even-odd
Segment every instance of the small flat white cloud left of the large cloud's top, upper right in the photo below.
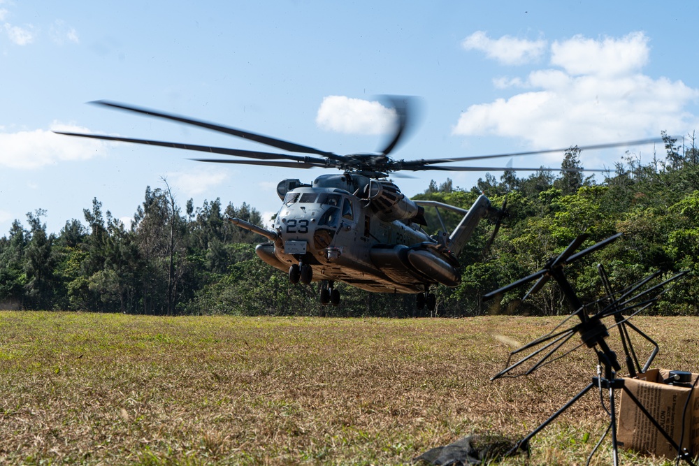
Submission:
{"label": "small flat white cloud left of the large cloud's top, upper right", "polygon": [[546,50],[546,41],[527,41],[512,36],[491,39],[484,31],[476,31],[463,39],[461,46],[466,50],[480,50],[487,57],[506,65],[521,65],[541,57]]}

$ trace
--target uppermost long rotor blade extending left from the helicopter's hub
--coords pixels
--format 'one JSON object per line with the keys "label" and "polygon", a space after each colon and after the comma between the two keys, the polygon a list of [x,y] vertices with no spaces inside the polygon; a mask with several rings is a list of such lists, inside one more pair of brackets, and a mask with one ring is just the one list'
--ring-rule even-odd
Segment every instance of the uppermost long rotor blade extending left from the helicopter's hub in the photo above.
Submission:
{"label": "uppermost long rotor blade extending left from the helicopter's hub", "polygon": [[157,110],[150,110],[147,108],[134,107],[131,105],[127,105],[125,103],[117,103],[117,102],[110,102],[110,101],[94,101],[92,103],[94,103],[95,105],[103,105],[105,107],[117,108],[119,110],[126,110],[128,112],[141,113],[143,115],[148,115],[150,117],[169,119],[169,120],[172,120],[173,122],[191,124],[192,126],[199,126],[201,128],[210,129],[212,131],[218,131],[219,133],[226,133],[226,134],[229,134],[231,136],[236,136],[238,138],[252,140],[256,143],[261,143],[264,145],[277,147],[278,149],[282,149],[282,150],[288,150],[289,152],[300,152],[302,154],[317,154],[317,155],[322,155],[322,156],[328,157],[329,159],[338,160],[338,161],[342,161],[344,159],[343,156],[338,155],[338,154],[333,154],[332,152],[325,152],[325,151],[322,151],[319,149],[315,149],[314,147],[308,147],[305,145],[290,143],[289,141],[285,141],[285,140],[281,140],[281,139],[277,139],[277,138],[271,138],[270,136],[264,136],[264,135],[257,134],[257,133],[251,133],[250,131],[244,131],[242,129],[232,128],[231,126],[222,126],[222,125],[215,124],[215,123],[203,122],[203,121],[198,120],[198,119],[181,117],[179,115],[171,115],[169,113],[159,112]]}

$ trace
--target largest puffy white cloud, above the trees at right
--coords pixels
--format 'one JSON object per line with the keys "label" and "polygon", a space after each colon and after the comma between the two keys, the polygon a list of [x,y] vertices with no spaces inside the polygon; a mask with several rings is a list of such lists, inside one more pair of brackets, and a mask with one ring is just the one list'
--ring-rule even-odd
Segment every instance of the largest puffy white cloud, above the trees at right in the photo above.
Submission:
{"label": "largest puffy white cloud, above the trees at right", "polygon": [[659,136],[662,130],[684,133],[698,123],[685,108],[699,89],[641,73],[649,60],[642,33],[575,36],[556,41],[550,52],[552,68],[496,82],[524,92],[471,105],[454,134],[520,138],[541,149]]}

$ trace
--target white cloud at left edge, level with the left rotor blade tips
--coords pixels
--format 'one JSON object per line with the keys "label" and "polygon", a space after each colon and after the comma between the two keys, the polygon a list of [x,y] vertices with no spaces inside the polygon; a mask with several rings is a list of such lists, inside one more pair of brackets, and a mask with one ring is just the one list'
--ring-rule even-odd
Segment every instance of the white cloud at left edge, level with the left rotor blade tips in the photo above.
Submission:
{"label": "white cloud at left edge, level with the left rotor blade tips", "polygon": [[[56,131],[87,133],[78,126],[55,123]],[[0,132],[0,166],[33,169],[61,161],[79,161],[103,156],[106,143],[94,139],[70,138],[44,129]]]}

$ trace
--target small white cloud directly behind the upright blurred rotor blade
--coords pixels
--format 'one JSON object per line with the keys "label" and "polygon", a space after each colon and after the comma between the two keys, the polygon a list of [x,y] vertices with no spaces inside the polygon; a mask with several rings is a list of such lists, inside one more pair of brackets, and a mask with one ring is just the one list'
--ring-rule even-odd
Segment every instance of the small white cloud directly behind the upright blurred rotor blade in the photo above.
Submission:
{"label": "small white cloud directly behind the upright blurred rotor blade", "polygon": [[327,131],[354,134],[389,133],[396,122],[396,110],[377,101],[327,96],[315,118],[316,124]]}

